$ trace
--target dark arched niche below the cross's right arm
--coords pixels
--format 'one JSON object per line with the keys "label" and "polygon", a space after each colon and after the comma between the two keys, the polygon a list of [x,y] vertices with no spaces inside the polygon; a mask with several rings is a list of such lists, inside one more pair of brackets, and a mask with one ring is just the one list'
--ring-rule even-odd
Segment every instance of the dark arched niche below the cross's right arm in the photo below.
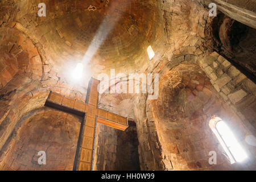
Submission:
{"label": "dark arched niche below the cross's right arm", "polygon": [[125,131],[97,123],[93,170],[140,170],[136,123],[129,121]]}

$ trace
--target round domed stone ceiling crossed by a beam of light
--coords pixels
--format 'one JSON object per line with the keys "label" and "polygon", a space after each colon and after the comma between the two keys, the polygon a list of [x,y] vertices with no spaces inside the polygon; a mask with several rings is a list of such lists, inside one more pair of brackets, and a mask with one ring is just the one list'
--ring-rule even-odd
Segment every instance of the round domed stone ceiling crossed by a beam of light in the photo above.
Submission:
{"label": "round domed stone ceiling crossed by a beam of light", "polygon": [[54,65],[63,72],[81,61],[93,73],[124,65],[129,71],[154,41],[155,1],[48,0],[44,3],[46,17],[39,17],[38,1],[19,1],[14,21],[16,28],[42,48],[44,64]]}

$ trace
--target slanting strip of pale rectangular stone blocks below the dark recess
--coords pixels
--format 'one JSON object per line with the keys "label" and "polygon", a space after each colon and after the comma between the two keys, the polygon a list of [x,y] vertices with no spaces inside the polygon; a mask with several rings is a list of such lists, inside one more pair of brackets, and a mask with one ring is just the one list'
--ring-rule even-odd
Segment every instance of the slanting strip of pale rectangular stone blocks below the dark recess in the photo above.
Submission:
{"label": "slanting strip of pale rectangular stone blocks below the dark recess", "polygon": [[255,132],[256,85],[224,57],[213,52],[200,60],[214,89],[232,107],[251,133]]}

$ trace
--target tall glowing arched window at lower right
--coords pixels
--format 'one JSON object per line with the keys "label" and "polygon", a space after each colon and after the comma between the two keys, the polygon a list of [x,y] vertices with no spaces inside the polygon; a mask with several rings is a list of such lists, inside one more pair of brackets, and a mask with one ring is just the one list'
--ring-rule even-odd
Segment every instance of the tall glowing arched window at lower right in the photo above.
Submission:
{"label": "tall glowing arched window at lower right", "polygon": [[221,146],[230,159],[230,163],[243,162],[247,159],[247,154],[243,150],[241,144],[238,142],[233,132],[228,125],[221,118],[213,117],[209,122],[210,129],[216,135]]}

